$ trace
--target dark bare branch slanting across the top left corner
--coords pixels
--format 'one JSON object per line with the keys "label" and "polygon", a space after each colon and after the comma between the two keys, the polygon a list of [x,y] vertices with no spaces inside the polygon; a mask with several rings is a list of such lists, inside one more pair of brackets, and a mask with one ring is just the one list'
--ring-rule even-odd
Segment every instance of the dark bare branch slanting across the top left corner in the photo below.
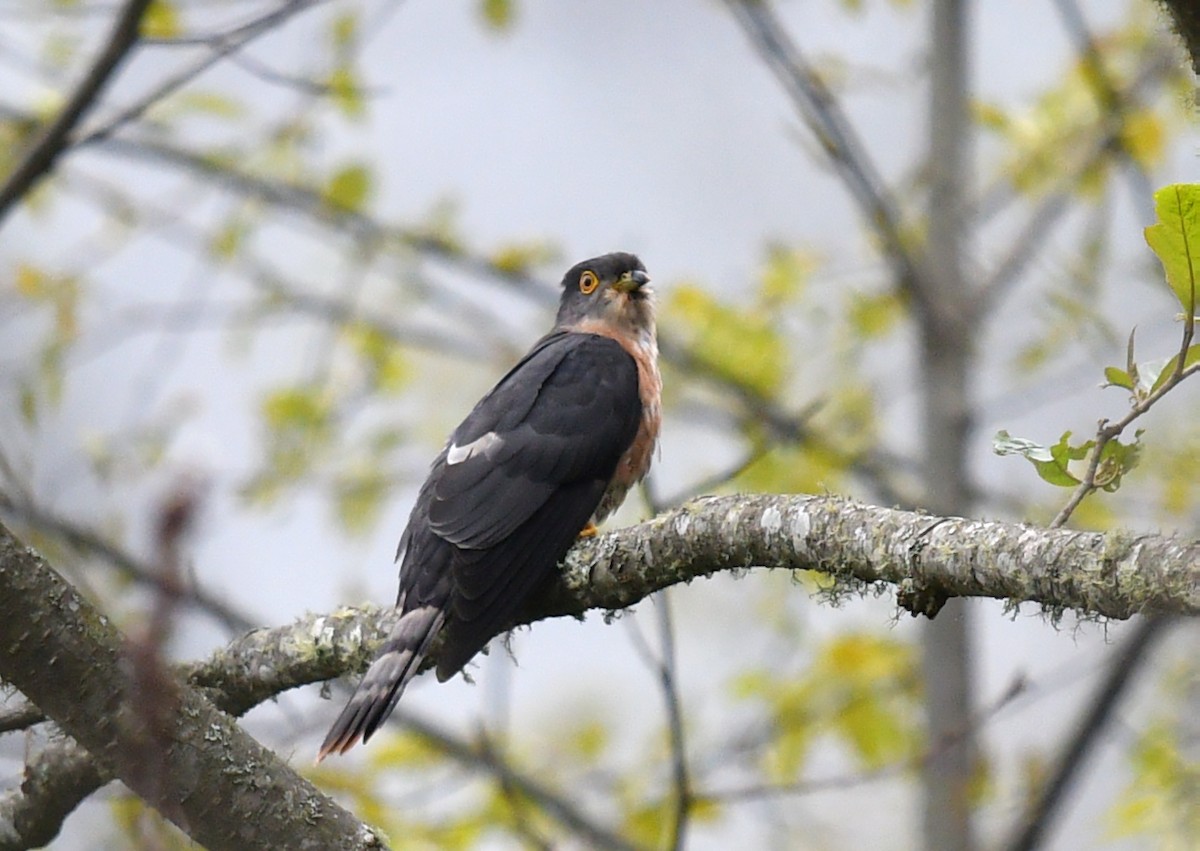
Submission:
{"label": "dark bare branch slanting across the top left corner", "polygon": [[116,68],[137,44],[142,14],[149,5],[150,0],[126,1],[104,48],[62,107],[62,112],[37,136],[17,168],[0,186],[0,224],[34,184],[54,168],[54,162],[67,145],[71,131],[84,113],[95,106]]}

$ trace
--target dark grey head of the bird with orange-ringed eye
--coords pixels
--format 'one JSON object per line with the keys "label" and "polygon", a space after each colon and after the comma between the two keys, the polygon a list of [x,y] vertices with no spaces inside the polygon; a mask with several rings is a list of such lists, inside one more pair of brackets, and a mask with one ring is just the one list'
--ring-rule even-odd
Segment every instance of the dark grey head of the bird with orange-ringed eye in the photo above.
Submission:
{"label": "dark grey head of the bird with orange-ringed eye", "polygon": [[654,290],[636,254],[617,251],[576,263],[563,276],[556,328],[608,328],[654,336]]}

